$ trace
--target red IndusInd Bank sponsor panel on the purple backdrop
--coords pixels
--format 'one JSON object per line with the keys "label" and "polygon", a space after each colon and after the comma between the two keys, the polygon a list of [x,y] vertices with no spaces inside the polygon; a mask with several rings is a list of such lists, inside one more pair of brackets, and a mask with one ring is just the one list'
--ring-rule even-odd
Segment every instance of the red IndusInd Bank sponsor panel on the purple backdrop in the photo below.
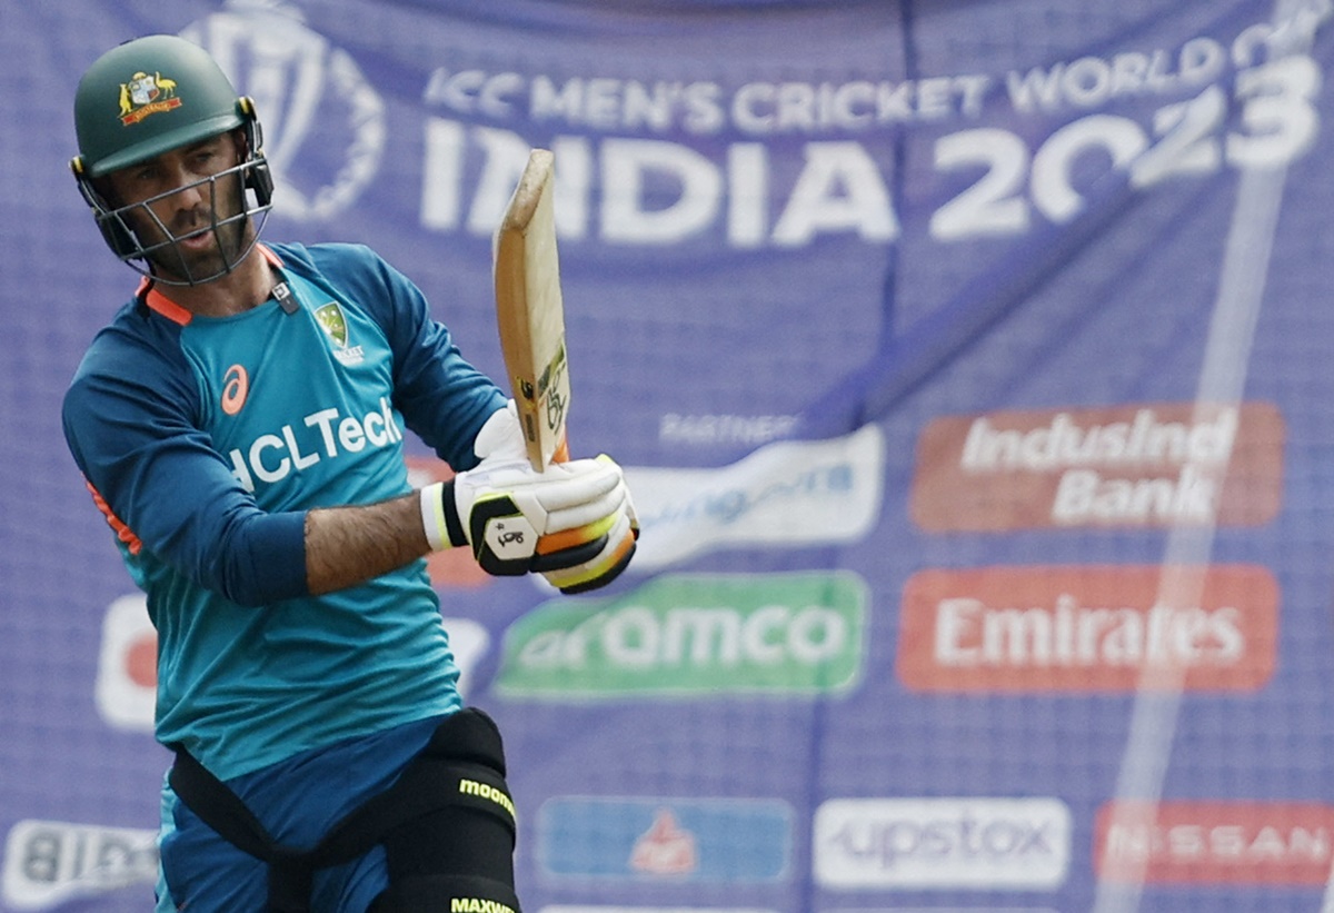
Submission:
{"label": "red IndusInd Bank sponsor panel on the purple backdrop", "polygon": [[1258,526],[1279,510],[1270,403],[942,416],[918,440],[911,513],[931,533]]}

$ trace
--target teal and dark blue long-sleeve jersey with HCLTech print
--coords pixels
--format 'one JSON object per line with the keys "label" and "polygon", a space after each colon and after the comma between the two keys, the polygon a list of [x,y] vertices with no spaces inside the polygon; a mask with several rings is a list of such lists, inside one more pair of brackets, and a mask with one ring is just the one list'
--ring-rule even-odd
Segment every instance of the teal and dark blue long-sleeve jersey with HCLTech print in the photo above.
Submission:
{"label": "teal and dark blue long-sleeve jersey with HCLTech print", "polygon": [[455,470],[504,394],[370,248],[263,247],[285,295],[203,318],[141,283],[91,343],[64,431],[157,629],[156,737],[221,778],[460,706],[416,561],[305,583],[305,513],[411,490],[403,435]]}

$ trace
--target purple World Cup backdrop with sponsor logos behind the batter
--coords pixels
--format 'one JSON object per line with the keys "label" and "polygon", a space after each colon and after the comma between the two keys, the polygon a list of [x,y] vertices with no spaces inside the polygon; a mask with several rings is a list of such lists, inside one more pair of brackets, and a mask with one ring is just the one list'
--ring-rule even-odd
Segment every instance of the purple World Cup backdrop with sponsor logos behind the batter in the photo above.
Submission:
{"label": "purple World Cup backdrop with sponsor logos behind the batter", "polygon": [[265,238],[371,244],[496,376],[556,154],[570,434],[640,553],[432,565],[526,910],[1334,910],[1331,16],[5,4],[0,908],[152,898],[155,638],[59,410],[136,283],[75,84],[172,32],[256,99]]}

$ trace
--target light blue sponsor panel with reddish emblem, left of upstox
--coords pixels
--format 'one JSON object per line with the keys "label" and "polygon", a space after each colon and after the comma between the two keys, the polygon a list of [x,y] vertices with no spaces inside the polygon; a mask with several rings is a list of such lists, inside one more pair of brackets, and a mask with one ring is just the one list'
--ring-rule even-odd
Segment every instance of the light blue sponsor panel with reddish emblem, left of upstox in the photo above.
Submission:
{"label": "light blue sponsor panel with reddish emblem, left of upstox", "polygon": [[775,882],[792,821],[779,800],[556,797],[538,809],[536,853],[562,878]]}

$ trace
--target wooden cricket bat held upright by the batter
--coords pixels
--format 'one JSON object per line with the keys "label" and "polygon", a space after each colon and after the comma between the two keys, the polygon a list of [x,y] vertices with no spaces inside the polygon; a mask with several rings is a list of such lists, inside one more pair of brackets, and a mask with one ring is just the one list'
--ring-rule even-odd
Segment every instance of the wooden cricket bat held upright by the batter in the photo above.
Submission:
{"label": "wooden cricket bat held upright by the batter", "polygon": [[554,211],[555,156],[532,149],[492,243],[496,322],[536,471],[570,458],[570,371]]}

